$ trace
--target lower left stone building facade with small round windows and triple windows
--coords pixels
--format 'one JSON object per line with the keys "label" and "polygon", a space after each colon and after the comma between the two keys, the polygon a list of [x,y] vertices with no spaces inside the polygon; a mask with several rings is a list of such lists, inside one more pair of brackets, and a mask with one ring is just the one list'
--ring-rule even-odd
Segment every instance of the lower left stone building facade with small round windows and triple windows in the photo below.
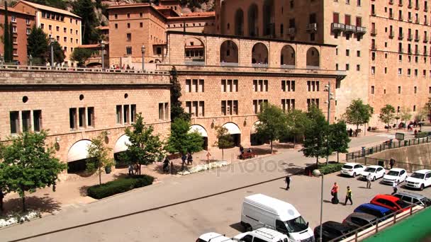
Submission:
{"label": "lower left stone building facade with small round windows and triple windows", "polygon": [[0,139],[48,130],[70,172],[82,168],[89,140],[108,132],[112,156],[126,149],[125,127],[142,113],[164,139],[170,127],[169,73],[0,70]]}

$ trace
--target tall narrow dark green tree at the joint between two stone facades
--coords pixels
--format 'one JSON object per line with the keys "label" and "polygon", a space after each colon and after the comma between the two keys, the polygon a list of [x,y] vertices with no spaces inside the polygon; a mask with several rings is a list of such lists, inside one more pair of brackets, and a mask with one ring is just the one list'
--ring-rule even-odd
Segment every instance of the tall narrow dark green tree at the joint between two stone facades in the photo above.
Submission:
{"label": "tall narrow dark green tree at the joint between two stone facades", "polygon": [[181,85],[178,81],[178,72],[175,67],[171,71],[171,120],[181,118],[183,120],[190,120],[190,114],[184,112],[181,106]]}

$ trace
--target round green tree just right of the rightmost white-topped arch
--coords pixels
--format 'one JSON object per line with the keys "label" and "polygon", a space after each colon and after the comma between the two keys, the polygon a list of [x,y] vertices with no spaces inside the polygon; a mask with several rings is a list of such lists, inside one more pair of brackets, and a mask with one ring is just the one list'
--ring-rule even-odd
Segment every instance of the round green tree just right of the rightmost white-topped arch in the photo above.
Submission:
{"label": "round green tree just right of the rightmost white-topped arch", "polygon": [[259,122],[256,125],[256,136],[258,139],[269,140],[272,154],[274,140],[280,139],[286,132],[286,114],[276,105],[264,104],[257,118]]}

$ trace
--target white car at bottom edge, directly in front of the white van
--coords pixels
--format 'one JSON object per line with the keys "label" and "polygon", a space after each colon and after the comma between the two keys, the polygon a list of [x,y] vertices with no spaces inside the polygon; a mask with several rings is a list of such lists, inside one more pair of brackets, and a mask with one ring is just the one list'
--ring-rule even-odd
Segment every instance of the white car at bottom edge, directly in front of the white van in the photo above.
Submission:
{"label": "white car at bottom edge, directly in front of the white van", "polygon": [[[286,234],[269,228],[260,228],[233,237],[234,241],[288,242]],[[211,240],[212,241],[212,240]]]}

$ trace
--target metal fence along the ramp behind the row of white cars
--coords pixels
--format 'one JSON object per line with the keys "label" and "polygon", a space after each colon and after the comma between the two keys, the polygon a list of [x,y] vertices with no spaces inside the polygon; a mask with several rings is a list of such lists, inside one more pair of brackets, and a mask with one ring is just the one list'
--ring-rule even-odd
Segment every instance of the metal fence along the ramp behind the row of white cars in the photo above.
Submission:
{"label": "metal fence along the ramp behind the row of white cars", "polygon": [[418,144],[424,144],[424,143],[430,143],[431,138],[430,137],[424,137],[424,138],[417,138],[417,139],[407,139],[407,140],[399,140],[394,141],[393,139],[390,139],[387,142],[384,142],[380,145],[364,148],[360,151],[354,151],[346,154],[346,161],[349,160],[357,160],[359,158],[363,158],[366,156],[369,156],[371,154],[385,151],[387,149],[396,149],[401,147],[407,147],[407,146],[413,146]]}

